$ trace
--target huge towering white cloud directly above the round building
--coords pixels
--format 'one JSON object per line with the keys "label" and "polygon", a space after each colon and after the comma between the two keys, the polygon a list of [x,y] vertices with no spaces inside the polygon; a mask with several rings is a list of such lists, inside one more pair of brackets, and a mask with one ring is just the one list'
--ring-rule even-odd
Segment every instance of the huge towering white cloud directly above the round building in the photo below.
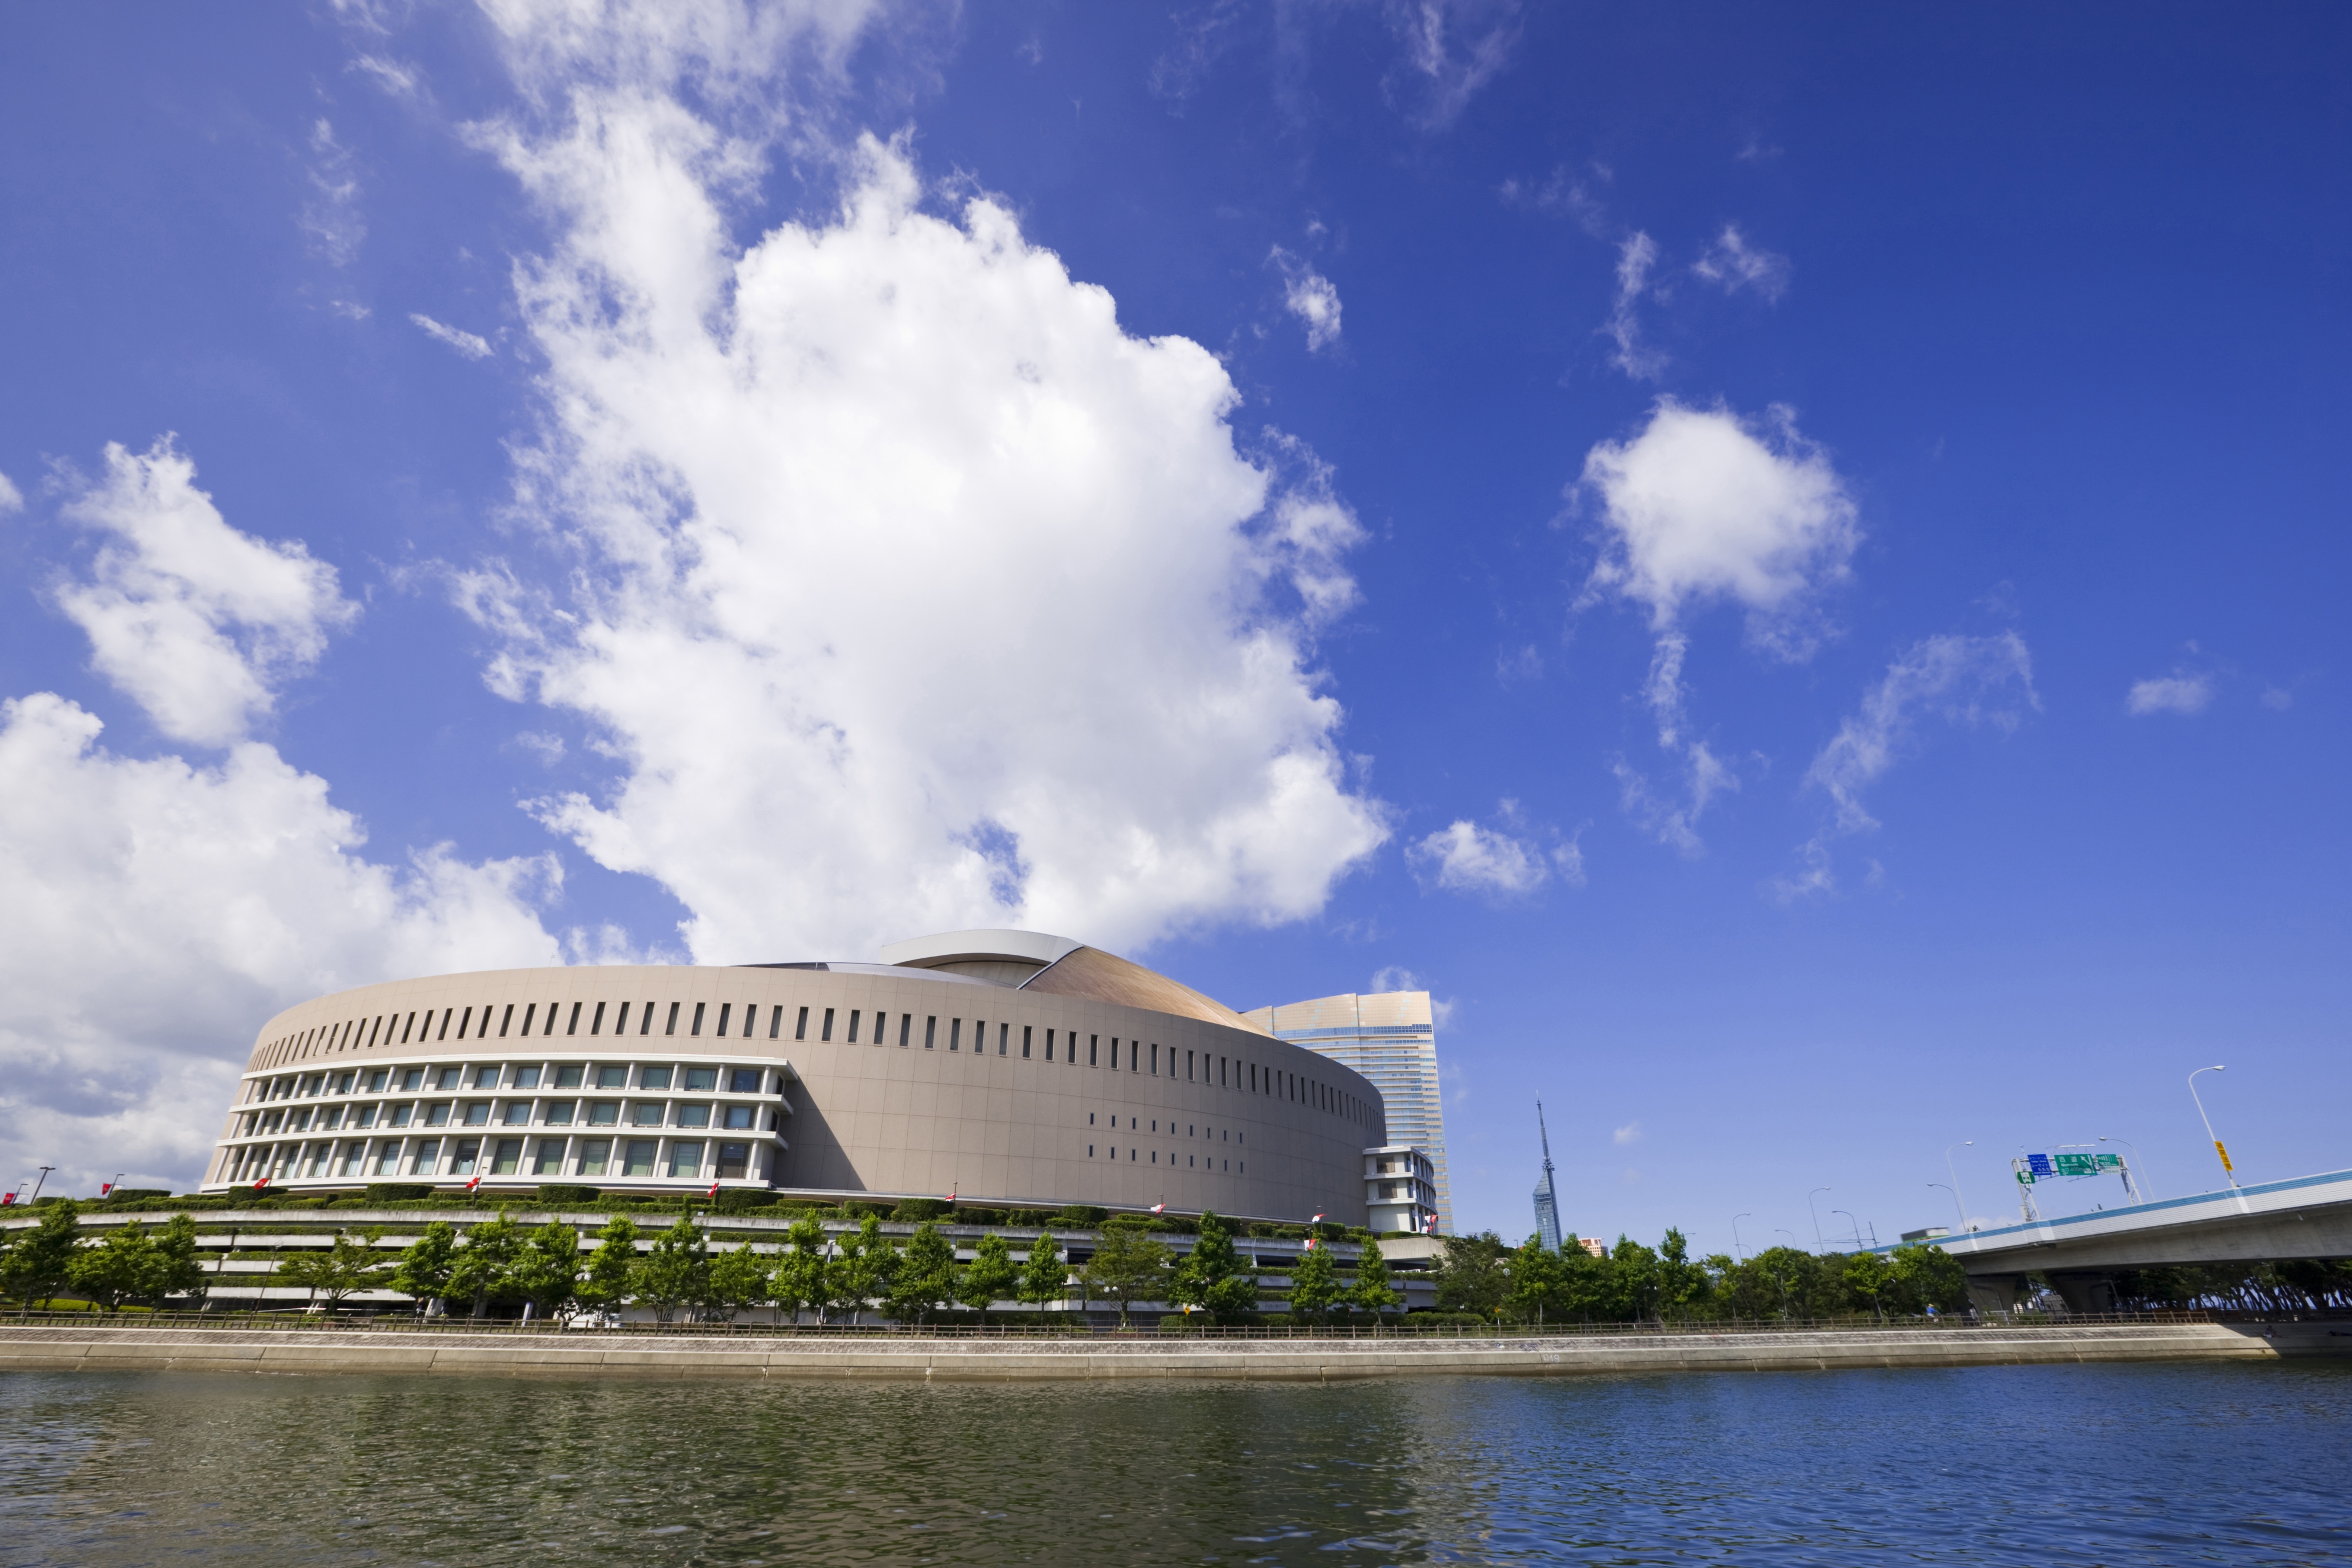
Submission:
{"label": "huge towering white cloud directly above the round building", "polygon": [[776,129],[715,61],[757,40],[527,16],[510,54],[562,113],[480,136],[560,235],[517,268],[548,367],[517,501],[557,564],[485,564],[466,602],[494,686],[621,759],[543,820],[668,886],[706,961],[1319,910],[1388,837],[1312,663],[1355,592],[1327,475],[1237,449],[1214,355],[1122,331],[903,146],[739,244]]}

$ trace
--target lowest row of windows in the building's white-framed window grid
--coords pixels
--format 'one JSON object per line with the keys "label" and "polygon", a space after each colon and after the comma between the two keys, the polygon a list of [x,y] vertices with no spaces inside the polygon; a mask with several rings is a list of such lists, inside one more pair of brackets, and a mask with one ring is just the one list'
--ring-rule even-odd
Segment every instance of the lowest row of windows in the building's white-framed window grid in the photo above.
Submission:
{"label": "lowest row of windows in the building's white-framed window grid", "polygon": [[[219,1180],[252,1182],[261,1178],[313,1178],[313,1175],[654,1175],[666,1166],[666,1175],[715,1175],[717,1180],[743,1180],[753,1173],[753,1145],[708,1145],[696,1138],[539,1138],[536,1150],[524,1152],[529,1138],[421,1138],[414,1145],[405,1138],[369,1140],[353,1138],[343,1145],[327,1143],[280,1143],[254,1145],[230,1159]],[[572,1145],[579,1154],[572,1154]],[[485,1145],[489,1154],[485,1157]],[[668,1145],[663,1150],[663,1145]],[[619,1157],[614,1150],[619,1147]],[[708,1152],[708,1166],[706,1166]]]}

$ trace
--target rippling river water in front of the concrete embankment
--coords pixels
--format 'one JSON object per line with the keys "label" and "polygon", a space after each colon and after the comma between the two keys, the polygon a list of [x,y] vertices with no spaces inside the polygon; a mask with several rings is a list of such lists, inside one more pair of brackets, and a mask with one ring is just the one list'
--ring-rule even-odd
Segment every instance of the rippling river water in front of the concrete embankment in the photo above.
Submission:
{"label": "rippling river water in front of the concrete embankment", "polygon": [[5,1563],[2352,1563],[2352,1363],[0,1375]]}

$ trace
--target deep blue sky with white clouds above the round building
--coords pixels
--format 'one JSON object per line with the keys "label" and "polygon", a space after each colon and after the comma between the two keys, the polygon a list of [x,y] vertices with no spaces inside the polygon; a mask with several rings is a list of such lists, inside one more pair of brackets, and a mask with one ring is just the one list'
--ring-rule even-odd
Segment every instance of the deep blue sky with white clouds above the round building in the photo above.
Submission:
{"label": "deep blue sky with white clouds above the round building", "polygon": [[2336,9],[583,16],[0,24],[0,1178],[960,924],[1414,976],[1510,1237],[2347,1164]]}

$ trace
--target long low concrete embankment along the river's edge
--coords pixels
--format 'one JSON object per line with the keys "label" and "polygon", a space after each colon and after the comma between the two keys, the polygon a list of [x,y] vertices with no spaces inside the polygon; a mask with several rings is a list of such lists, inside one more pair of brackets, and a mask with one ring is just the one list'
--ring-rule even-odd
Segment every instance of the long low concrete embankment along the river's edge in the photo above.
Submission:
{"label": "long low concrete embankment along the river's edge", "polygon": [[1416,1375],[1592,1375],[2267,1361],[2352,1354],[2345,1324],[2098,1324],[1592,1333],[1508,1338],[920,1338],[630,1335],[367,1328],[0,1326],[0,1371],[430,1373],[466,1378],[1167,1380],[1327,1382]]}

